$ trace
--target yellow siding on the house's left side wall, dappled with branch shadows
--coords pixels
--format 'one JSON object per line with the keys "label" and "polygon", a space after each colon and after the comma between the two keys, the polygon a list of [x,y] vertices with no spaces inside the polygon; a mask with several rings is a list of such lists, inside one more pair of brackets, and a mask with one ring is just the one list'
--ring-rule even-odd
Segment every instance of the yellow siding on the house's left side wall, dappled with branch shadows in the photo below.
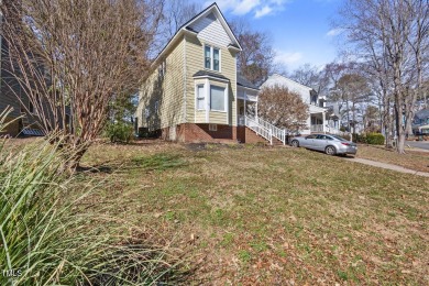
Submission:
{"label": "yellow siding on the house's left side wall, dappled with branch shadows", "polygon": [[[164,77],[160,76],[156,66],[140,91],[139,127],[156,130],[184,122],[184,41],[179,41],[165,57]],[[148,121],[144,116],[146,108],[150,110]]]}

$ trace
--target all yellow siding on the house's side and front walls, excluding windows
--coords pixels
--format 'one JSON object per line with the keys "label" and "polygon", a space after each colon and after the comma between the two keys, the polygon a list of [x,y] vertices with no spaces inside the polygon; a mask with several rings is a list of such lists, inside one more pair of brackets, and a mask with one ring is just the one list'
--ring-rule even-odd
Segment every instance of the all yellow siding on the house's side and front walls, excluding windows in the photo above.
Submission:
{"label": "all yellow siding on the house's side and front walls, excluding windows", "polygon": [[[185,35],[182,41],[170,47],[172,52],[165,58],[165,76],[160,77],[158,66],[156,66],[142,87],[136,111],[139,127],[157,130],[185,122],[237,125],[235,52],[230,52],[226,46],[207,44],[221,50],[221,70],[219,74],[227,77],[230,82],[227,84],[213,78],[210,78],[209,81],[210,85],[228,87],[228,112],[210,111],[207,122],[206,111],[196,110],[196,84],[206,84],[206,80],[195,79],[193,76],[199,70],[205,70],[205,43],[195,35]],[[157,112],[156,102],[158,102]],[[145,118],[145,109],[150,111],[148,120]]]}

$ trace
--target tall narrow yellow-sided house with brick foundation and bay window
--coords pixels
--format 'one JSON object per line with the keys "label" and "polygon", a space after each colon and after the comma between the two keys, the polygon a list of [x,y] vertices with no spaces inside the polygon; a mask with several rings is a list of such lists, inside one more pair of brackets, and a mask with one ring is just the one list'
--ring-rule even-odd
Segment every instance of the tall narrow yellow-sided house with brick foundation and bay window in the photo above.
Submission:
{"label": "tall narrow yellow-sided house with brick foundation and bay window", "polygon": [[245,119],[257,111],[258,89],[237,73],[240,51],[216,3],[185,23],[140,90],[136,132],[180,142],[265,141]]}

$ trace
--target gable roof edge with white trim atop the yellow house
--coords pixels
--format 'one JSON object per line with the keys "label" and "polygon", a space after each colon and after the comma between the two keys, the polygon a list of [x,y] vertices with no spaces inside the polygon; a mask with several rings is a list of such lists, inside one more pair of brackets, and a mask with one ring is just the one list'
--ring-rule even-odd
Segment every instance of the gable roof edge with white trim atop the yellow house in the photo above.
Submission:
{"label": "gable roof edge with white trim atop the yellow house", "polygon": [[156,64],[160,61],[160,58],[162,58],[167,53],[168,48],[170,46],[173,46],[176,43],[176,41],[183,34],[185,34],[185,33],[189,33],[189,34],[194,34],[194,35],[197,34],[198,32],[195,31],[193,28],[190,28],[190,25],[193,23],[195,23],[196,21],[198,21],[199,19],[202,19],[202,18],[209,15],[210,13],[213,13],[217,16],[217,19],[219,20],[220,24],[222,25],[222,28],[227,32],[228,36],[230,37],[231,44],[228,47],[235,48],[238,51],[242,51],[239,41],[237,40],[237,37],[235,37],[234,33],[232,32],[230,25],[228,24],[227,20],[224,19],[224,16],[223,16],[222,12],[220,11],[218,4],[216,2],[213,2],[211,6],[207,7],[205,10],[202,10],[201,12],[196,14],[193,19],[190,19],[188,22],[183,24],[177,30],[177,32],[174,34],[174,36],[168,41],[168,43],[164,46],[164,48],[161,51],[161,53],[156,56],[156,58],[154,61],[154,64]]}

